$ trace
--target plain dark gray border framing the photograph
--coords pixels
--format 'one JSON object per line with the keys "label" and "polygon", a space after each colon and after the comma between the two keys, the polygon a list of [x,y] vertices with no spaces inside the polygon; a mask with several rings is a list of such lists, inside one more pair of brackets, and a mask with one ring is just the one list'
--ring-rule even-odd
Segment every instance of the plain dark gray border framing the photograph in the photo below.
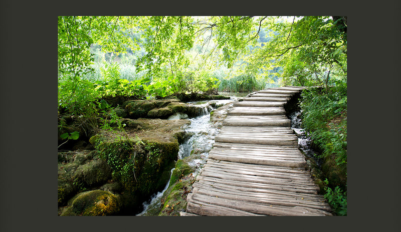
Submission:
{"label": "plain dark gray border framing the photograph", "polygon": [[[156,9],[155,9],[156,8]],[[400,3],[283,1],[11,1],[0,5],[2,134],[0,230],[225,228],[395,231],[400,211]],[[56,178],[58,15],[348,16],[348,216],[58,217]],[[382,97],[381,97],[382,96]],[[195,219],[196,218],[196,219]],[[139,227],[138,227],[139,226]]]}

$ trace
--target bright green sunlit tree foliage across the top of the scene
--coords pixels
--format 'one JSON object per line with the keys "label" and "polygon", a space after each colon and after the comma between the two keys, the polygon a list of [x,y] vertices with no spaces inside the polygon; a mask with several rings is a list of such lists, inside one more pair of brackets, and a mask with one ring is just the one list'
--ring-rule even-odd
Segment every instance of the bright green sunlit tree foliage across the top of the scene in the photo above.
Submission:
{"label": "bright green sunlit tree foliage across the top of the scene", "polygon": [[328,86],[346,81],[346,23],[336,16],[61,16],[58,77],[82,87],[101,49],[105,61],[135,65],[152,83],[190,77],[216,84],[213,73],[225,66],[227,77]]}

